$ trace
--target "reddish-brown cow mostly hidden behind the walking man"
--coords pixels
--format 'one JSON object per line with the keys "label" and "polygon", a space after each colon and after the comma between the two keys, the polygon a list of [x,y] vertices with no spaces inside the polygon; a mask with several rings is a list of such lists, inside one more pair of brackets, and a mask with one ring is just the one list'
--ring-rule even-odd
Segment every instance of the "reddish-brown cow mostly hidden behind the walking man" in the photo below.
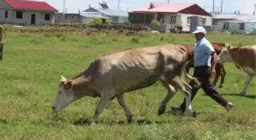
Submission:
{"label": "reddish-brown cow mostly hidden behind the walking man", "polygon": [[[216,51],[216,54],[218,55],[220,53],[220,51],[222,50],[222,48],[225,47],[225,43],[216,43],[213,42],[211,43],[213,45],[214,50]],[[189,65],[187,65],[186,67],[186,71],[187,73],[189,73],[190,67],[194,67],[194,45],[184,45],[185,48],[187,48],[187,52],[188,52],[188,61],[190,61]],[[216,85],[216,82],[219,79],[219,76],[221,76],[221,81],[219,83],[219,88],[222,88],[223,86],[223,82],[226,76],[226,70],[223,66],[223,64],[216,64],[216,77],[213,81],[213,84]]]}

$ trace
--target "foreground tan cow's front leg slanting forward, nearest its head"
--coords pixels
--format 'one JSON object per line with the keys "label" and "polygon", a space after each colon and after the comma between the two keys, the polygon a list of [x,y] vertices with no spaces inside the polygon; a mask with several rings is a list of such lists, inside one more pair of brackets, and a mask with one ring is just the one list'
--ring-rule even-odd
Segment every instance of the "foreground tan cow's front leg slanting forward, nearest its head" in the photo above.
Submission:
{"label": "foreground tan cow's front leg slanting forward, nearest its head", "polygon": [[103,112],[104,108],[107,106],[107,101],[109,101],[110,98],[113,98],[113,97],[114,97],[114,92],[104,92],[101,94],[100,101],[98,101],[98,105],[94,113],[94,118],[90,120],[90,122],[88,123],[88,126],[98,122],[98,117]]}

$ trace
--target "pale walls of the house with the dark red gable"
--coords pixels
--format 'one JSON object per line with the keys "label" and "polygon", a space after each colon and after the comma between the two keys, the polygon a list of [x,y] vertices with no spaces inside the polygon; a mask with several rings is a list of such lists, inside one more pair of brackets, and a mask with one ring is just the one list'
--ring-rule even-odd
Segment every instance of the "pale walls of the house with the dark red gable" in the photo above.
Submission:
{"label": "pale walls of the house with the dark red gable", "polygon": [[[189,32],[190,31],[190,23],[187,21],[187,17],[198,16],[206,19],[205,26],[212,26],[212,17],[202,16],[202,15],[194,15],[194,14],[174,14],[174,13],[164,13],[163,24],[168,24],[171,28],[174,26],[182,26],[182,31]],[[171,17],[176,17],[176,23],[171,23]],[[188,22],[188,23],[187,23]]]}

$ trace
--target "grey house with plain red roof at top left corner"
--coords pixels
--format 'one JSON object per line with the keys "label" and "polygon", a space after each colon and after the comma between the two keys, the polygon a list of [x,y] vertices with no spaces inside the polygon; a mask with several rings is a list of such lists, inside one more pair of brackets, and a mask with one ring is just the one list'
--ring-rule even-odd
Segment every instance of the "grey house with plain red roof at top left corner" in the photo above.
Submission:
{"label": "grey house with plain red roof at top left corner", "polygon": [[47,25],[54,23],[56,8],[46,2],[0,0],[0,23]]}

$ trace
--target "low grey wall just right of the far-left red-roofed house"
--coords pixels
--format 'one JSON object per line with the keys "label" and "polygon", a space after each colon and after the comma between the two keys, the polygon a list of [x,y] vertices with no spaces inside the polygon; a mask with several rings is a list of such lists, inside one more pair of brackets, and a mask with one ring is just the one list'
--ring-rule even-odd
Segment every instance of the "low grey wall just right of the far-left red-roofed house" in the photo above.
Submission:
{"label": "low grey wall just right of the far-left red-roofed house", "polygon": [[63,21],[63,14],[56,14],[55,17],[56,23],[81,23],[82,18],[79,17],[79,14],[65,14],[65,19]]}

